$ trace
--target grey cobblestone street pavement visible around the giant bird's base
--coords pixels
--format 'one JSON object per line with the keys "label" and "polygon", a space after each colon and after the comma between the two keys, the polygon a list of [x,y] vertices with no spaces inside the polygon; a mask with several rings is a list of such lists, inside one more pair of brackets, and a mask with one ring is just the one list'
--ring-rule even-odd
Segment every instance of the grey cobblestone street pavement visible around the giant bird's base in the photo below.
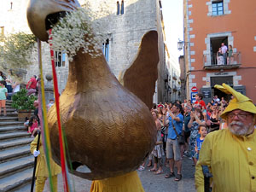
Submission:
{"label": "grey cobblestone street pavement visible around the giant bird's base", "polygon": [[[164,173],[160,175],[154,175],[153,172],[148,172],[148,169],[138,172],[138,175],[141,178],[145,192],[195,192],[195,166],[192,166],[192,164],[192,160],[184,158],[183,179],[180,182],[174,181],[174,177],[165,178],[166,172],[169,172],[168,167],[165,167]],[[74,176],[72,182],[75,183],[76,192],[90,191],[91,181]],[[63,191],[61,175],[59,175],[58,191]],[[44,192],[49,192],[49,183],[46,183]]]}

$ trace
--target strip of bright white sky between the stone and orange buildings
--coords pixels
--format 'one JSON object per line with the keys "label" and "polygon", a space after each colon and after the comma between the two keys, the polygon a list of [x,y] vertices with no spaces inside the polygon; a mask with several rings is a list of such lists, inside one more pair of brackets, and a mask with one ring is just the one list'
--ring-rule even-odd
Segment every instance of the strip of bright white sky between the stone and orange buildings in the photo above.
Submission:
{"label": "strip of bright white sky between the stone and orange buildings", "polygon": [[178,65],[183,50],[177,49],[178,39],[183,40],[183,0],[161,0],[166,31],[166,44],[171,62]]}

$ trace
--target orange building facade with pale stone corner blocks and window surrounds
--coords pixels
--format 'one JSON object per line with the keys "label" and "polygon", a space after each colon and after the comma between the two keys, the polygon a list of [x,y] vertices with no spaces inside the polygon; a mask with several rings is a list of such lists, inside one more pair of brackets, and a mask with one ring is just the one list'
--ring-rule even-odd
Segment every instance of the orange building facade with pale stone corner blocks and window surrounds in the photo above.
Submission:
{"label": "orange building facade with pale stone corner blocks and window surrounds", "polygon": [[[256,1],[184,0],[186,94],[192,87],[212,96],[229,96],[214,84],[230,84],[256,103]],[[227,46],[221,48],[222,44]],[[222,50],[222,51],[221,51]]]}

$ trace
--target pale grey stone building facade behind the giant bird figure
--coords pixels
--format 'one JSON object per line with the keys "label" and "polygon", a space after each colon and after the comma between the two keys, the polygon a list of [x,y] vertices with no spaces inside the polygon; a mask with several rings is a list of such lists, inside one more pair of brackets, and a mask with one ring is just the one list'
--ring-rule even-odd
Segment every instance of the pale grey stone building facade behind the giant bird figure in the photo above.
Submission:
{"label": "pale grey stone building facade behind the giant bird figure", "polygon": [[[165,67],[165,46],[163,37],[163,15],[161,12],[161,3],[159,0],[95,0],[90,1],[92,9],[99,9],[104,2],[107,4],[109,15],[101,18],[102,22],[108,20],[108,25],[104,28],[107,34],[106,42],[102,44],[102,50],[106,54],[108,65],[114,75],[118,78],[119,73],[129,66],[137,55],[137,49],[143,38],[143,35],[155,30],[159,34],[159,79],[157,81],[155,102],[163,102],[163,92],[165,89],[164,74]],[[30,32],[26,21],[26,4],[28,0],[19,0],[11,3],[4,1],[1,6],[0,26],[4,27],[4,32]],[[83,6],[84,0],[79,0]],[[118,6],[119,5],[119,6]],[[11,7],[12,6],[12,7]],[[119,7],[119,8],[118,8]],[[104,9],[104,7],[103,7]],[[3,16],[2,16],[3,15]],[[6,16],[8,15],[8,16]],[[42,44],[44,76],[51,73],[49,44]],[[68,60],[67,55],[59,53],[59,64],[56,67],[56,73],[59,80],[59,90],[63,90],[67,84]],[[32,55],[33,65],[26,69],[25,82],[34,74],[38,75],[38,55]]]}

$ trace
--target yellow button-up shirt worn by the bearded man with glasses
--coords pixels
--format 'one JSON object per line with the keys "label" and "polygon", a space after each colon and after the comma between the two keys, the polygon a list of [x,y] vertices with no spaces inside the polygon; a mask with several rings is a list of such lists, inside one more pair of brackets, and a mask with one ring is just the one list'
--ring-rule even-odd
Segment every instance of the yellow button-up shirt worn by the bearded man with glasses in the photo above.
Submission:
{"label": "yellow button-up shirt worn by the bearded man with glasses", "polygon": [[212,170],[212,192],[256,191],[256,131],[236,137],[225,129],[207,135],[195,168],[195,187],[204,191],[201,166]]}

